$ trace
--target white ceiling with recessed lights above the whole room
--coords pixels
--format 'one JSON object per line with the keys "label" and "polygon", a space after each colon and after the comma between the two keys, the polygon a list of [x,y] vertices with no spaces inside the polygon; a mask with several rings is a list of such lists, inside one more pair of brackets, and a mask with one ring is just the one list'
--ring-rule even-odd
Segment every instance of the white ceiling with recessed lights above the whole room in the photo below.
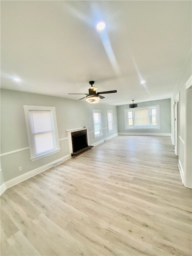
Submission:
{"label": "white ceiling with recessed lights above the whole room", "polygon": [[191,1],[1,1],[2,88],[78,100],[95,80],[117,90],[104,104],[170,98],[190,49]]}

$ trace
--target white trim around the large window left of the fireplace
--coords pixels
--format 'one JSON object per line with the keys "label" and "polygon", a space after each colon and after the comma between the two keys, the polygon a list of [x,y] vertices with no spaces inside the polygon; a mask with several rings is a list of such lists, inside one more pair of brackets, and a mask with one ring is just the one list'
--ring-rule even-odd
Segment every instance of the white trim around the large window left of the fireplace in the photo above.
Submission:
{"label": "white trim around the large window left of the fireplace", "polygon": [[[57,119],[56,119],[56,112],[55,112],[55,107],[44,107],[44,106],[29,106],[29,105],[23,105],[24,107],[24,112],[25,112],[25,121],[26,121],[26,127],[27,127],[27,136],[28,136],[28,141],[29,141],[29,151],[31,158],[30,160],[36,161],[38,159],[41,159],[46,156],[50,156],[52,154],[55,154],[60,151],[59,148],[59,136],[58,136],[58,129],[57,129]],[[30,125],[30,117],[29,117],[29,110],[50,110],[52,112],[52,118],[53,118],[53,124],[54,124],[54,135],[55,135],[55,144],[56,144],[56,149],[42,154],[35,156],[34,154],[34,148],[33,148],[33,139],[32,139],[32,132],[31,132],[31,125]]]}

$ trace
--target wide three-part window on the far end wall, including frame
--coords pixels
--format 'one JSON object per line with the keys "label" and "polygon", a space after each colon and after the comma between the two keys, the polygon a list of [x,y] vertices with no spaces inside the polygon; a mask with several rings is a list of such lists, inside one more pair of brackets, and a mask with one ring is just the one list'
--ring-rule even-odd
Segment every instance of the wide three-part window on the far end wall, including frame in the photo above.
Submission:
{"label": "wide three-part window on the far end wall, including frame", "polygon": [[125,109],[125,129],[160,129],[159,105]]}

